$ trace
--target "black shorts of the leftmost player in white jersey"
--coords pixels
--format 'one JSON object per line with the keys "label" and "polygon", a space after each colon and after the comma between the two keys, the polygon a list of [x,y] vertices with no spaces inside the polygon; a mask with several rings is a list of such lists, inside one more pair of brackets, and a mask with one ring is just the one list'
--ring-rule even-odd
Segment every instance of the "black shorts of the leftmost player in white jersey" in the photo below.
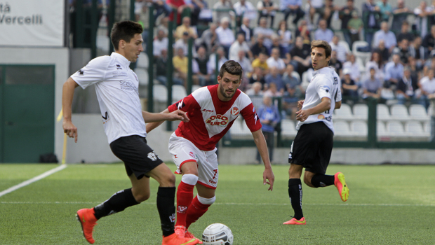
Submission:
{"label": "black shorts of the leftmost player in white jersey", "polygon": [[110,144],[112,153],[124,162],[128,176],[135,174],[136,179],[147,176],[162,160],[147,145],[147,139],[138,135],[121,137]]}

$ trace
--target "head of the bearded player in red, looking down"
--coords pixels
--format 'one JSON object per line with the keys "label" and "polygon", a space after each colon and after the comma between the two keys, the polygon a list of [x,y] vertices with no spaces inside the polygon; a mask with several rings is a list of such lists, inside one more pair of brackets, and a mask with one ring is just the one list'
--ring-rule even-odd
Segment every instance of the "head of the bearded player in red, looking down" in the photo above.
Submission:
{"label": "head of the bearded player in red, looking down", "polygon": [[234,60],[228,60],[220,67],[219,76],[217,76],[217,83],[219,83],[217,90],[225,101],[229,101],[234,96],[240,86],[242,73],[243,69],[240,64]]}

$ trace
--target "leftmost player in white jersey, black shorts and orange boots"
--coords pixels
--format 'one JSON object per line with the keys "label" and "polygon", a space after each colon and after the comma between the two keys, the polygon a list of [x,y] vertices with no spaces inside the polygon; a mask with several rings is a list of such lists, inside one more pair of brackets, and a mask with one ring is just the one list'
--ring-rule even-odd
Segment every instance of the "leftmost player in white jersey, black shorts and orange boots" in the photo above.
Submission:
{"label": "leftmost player in white jersey, black shorts and orange boots", "polygon": [[97,57],[74,73],[63,85],[63,129],[77,142],[77,128],[72,123],[71,104],[74,89],[95,84],[102,123],[110,148],[124,162],[132,188],[120,190],[92,209],[80,209],[77,218],[83,235],[93,244],[93,227],[104,216],[123,211],[149,198],[149,177],[159,182],[157,210],[161,220],[163,245],[199,244],[199,239],[178,237],[175,223],[175,175],[147,145],[145,122],[189,119],[185,112],[169,114],[142,111],[138,94],[138,76],[130,69],[142,48],[142,26],[123,21],[114,24],[111,39],[115,48],[110,56]]}

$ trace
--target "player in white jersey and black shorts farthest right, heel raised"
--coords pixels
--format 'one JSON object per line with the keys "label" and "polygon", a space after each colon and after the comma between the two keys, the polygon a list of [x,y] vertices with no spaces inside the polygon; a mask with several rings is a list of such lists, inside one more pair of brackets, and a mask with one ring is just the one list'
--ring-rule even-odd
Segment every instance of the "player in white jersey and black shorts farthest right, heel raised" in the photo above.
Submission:
{"label": "player in white jersey and black shorts farthest right, heel raised", "polygon": [[305,99],[297,103],[299,120],[297,134],[288,155],[288,196],[295,211],[284,225],[305,225],[302,214],[302,169],[304,183],[312,188],[335,185],[343,202],[349,197],[344,174],[326,175],[333,150],[333,111],[341,107],[340,80],[334,69],[328,67],[331,47],[326,41],[311,43],[313,78],[307,87]]}

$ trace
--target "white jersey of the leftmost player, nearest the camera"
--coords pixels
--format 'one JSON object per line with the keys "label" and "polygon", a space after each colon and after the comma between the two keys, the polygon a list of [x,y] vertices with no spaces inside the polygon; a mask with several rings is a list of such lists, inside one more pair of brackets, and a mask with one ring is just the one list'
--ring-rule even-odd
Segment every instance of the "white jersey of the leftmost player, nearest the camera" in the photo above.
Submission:
{"label": "white jersey of the leftmost player, nearest the camera", "polygon": [[126,57],[112,52],[110,56],[92,59],[71,76],[83,89],[95,84],[109,144],[130,135],[147,136],[138,93],[138,76],[129,66]]}

